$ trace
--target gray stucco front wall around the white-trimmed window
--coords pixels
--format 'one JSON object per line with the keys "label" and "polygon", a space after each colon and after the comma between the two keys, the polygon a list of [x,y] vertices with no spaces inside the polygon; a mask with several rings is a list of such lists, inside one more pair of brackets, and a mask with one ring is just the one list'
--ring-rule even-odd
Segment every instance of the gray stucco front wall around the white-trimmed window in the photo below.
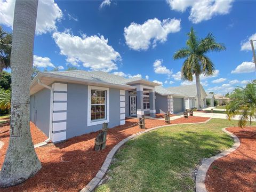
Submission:
{"label": "gray stucco front wall around the white-trimmed window", "polygon": [[[87,126],[88,86],[68,83],[67,139],[102,129],[102,124]],[[126,98],[125,98],[126,100]],[[108,127],[120,124],[120,90],[109,89]]]}

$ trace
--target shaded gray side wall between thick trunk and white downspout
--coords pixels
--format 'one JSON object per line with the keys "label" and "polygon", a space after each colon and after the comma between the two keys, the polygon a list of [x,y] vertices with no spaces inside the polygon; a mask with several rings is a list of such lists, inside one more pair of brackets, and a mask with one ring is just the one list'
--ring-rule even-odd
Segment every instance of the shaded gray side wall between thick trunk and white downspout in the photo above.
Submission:
{"label": "shaded gray side wall between thick trunk and white downspout", "polygon": [[51,91],[43,89],[30,96],[30,121],[49,136]]}

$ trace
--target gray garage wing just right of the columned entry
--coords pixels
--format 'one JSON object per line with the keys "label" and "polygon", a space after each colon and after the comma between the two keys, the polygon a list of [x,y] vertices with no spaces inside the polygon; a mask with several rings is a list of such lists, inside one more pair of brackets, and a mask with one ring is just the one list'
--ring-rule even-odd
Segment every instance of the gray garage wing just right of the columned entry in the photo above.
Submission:
{"label": "gray garage wing just right of the columned entry", "polygon": [[155,87],[156,113],[177,114],[185,110],[185,95],[171,92],[162,86]]}

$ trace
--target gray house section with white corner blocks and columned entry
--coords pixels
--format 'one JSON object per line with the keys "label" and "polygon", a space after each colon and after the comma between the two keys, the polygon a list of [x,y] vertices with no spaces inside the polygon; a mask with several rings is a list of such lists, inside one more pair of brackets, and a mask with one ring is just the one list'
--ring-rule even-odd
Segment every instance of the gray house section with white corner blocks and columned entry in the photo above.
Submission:
{"label": "gray house section with white corner blocks and columned entry", "polygon": [[155,116],[155,87],[142,78],[102,71],[40,72],[30,84],[30,121],[50,140],[125,124],[125,117]]}

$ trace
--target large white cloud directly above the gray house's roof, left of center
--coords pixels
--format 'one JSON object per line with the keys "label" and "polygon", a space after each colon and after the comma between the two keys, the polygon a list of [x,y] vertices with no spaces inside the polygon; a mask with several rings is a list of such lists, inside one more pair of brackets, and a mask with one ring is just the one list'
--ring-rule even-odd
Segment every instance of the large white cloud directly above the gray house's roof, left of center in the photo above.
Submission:
{"label": "large white cloud directly above the gray house's roof, left of center", "polygon": [[74,66],[79,66],[81,62],[91,70],[109,72],[118,69],[116,62],[122,60],[120,54],[108,45],[108,39],[103,35],[79,37],[65,31],[53,33],[53,39],[60,48],[60,54],[66,55],[67,62]]}

